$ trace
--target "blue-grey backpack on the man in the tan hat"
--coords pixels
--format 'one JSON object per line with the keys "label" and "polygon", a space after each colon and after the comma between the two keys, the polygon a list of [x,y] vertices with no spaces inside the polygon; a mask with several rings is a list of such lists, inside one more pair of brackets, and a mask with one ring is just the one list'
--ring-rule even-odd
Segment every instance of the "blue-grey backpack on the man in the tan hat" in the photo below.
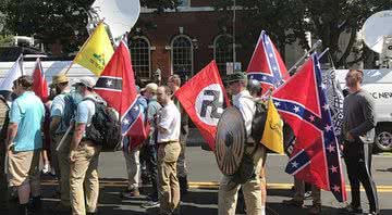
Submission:
{"label": "blue-grey backpack on the man in the tan hat", "polygon": [[76,92],[69,92],[64,96],[64,113],[62,115],[62,123],[68,128],[71,125],[71,119],[75,117],[77,104],[82,101],[82,96]]}

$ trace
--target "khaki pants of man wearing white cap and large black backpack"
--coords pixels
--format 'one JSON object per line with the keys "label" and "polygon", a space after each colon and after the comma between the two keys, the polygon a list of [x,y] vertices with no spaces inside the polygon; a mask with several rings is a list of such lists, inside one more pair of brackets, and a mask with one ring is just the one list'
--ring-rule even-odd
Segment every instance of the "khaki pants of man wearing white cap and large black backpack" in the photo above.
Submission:
{"label": "khaki pants of man wearing white cap and large black backpack", "polygon": [[[70,199],[73,215],[85,215],[97,211],[99,180],[98,159],[101,147],[83,141],[71,164]],[[86,200],[85,200],[86,197]],[[85,206],[86,203],[86,206]]]}

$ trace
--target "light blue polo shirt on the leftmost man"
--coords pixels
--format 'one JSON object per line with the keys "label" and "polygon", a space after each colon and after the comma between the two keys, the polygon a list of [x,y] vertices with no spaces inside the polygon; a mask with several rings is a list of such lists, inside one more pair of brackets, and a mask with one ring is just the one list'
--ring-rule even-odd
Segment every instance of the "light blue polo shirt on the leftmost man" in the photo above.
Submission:
{"label": "light blue polo shirt on the leftmost man", "polygon": [[41,126],[45,108],[32,91],[26,91],[12,102],[10,123],[17,124],[14,151],[33,151],[42,148]]}

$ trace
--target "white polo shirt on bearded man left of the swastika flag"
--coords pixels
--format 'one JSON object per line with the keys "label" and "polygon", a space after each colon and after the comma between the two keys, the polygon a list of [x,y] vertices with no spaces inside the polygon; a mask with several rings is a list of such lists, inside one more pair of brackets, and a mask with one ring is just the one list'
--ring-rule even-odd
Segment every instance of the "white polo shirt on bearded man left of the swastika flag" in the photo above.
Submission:
{"label": "white polo shirt on bearded man left of the swastika flag", "polygon": [[159,110],[158,125],[164,128],[158,130],[158,143],[180,141],[181,114],[173,101]]}

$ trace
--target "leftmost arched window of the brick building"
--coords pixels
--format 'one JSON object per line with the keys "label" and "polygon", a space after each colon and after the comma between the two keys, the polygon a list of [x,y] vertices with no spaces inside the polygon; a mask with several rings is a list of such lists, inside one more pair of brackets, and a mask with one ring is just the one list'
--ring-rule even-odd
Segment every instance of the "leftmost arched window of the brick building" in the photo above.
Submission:
{"label": "leftmost arched window of the brick building", "polygon": [[142,79],[150,78],[150,42],[146,37],[134,37],[130,41],[132,67]]}

